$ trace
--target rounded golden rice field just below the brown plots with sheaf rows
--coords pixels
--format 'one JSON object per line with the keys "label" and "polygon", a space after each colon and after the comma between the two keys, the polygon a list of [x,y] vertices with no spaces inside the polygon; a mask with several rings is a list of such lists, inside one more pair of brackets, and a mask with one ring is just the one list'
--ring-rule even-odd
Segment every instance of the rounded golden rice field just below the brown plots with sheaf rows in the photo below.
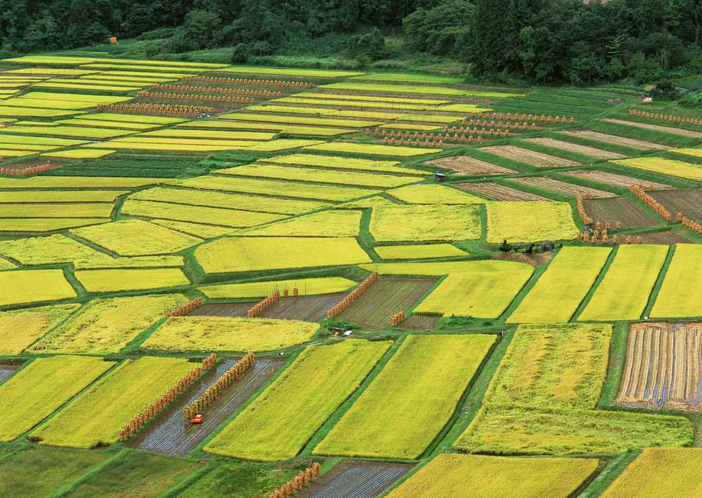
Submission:
{"label": "rounded golden rice field just below the brown plots with sheaf rows", "polygon": [[144,342],[154,351],[272,351],[302,344],[317,332],[317,323],[232,316],[168,318]]}

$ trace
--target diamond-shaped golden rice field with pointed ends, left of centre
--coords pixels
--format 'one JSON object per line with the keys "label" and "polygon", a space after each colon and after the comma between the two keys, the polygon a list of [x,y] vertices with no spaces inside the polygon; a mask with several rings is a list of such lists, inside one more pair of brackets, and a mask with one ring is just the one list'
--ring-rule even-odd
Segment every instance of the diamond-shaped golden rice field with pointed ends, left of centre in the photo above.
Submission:
{"label": "diamond-shaped golden rice field with pointed ends, left of centre", "polygon": [[121,256],[178,253],[201,242],[201,238],[142,220],[120,220],[73,229],[71,233]]}

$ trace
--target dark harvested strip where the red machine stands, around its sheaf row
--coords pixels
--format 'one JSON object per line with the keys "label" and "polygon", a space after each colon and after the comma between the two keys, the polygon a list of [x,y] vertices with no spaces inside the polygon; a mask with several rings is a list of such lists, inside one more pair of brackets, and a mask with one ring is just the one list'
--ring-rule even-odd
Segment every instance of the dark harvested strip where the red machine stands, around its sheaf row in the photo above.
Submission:
{"label": "dark harvested strip where the red machine stands, around its sheaf row", "polygon": [[256,393],[279,368],[283,360],[261,359],[243,377],[234,382],[217,398],[215,403],[203,412],[201,424],[190,424],[183,417],[183,409],[201,393],[232,368],[237,360],[223,361],[215,371],[209,372],[193,389],[192,394],[180,400],[154,420],[142,433],[139,433],[128,447],[139,450],[183,457],[194,450],[209,434],[217,429],[234,411],[243,405],[249,396]]}

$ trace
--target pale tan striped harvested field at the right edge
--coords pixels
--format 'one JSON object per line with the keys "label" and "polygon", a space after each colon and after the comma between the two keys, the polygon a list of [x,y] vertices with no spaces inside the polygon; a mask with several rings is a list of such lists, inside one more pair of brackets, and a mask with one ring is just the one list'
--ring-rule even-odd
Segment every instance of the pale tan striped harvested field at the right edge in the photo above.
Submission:
{"label": "pale tan striped harvested field at the right edge", "polygon": [[633,323],[617,403],[700,408],[702,323]]}

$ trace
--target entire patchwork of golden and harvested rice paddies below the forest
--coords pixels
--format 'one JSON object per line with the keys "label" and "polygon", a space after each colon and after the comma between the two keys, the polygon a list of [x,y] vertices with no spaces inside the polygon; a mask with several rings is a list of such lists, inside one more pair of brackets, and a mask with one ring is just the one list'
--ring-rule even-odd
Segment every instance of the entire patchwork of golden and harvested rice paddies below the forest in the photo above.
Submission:
{"label": "entire patchwork of golden and harvested rice paddies below the forest", "polygon": [[0,60],[0,495],[700,494],[701,113],[129,47]]}

